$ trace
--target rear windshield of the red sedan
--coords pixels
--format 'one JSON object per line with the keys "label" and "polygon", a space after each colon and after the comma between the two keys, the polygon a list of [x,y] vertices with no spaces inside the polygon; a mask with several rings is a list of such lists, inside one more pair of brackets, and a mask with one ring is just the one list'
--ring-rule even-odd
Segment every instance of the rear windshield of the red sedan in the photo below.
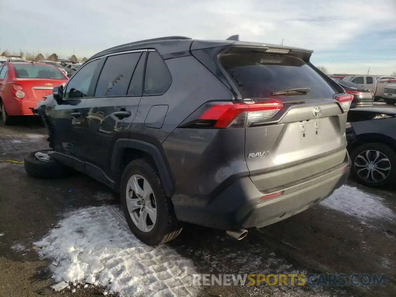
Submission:
{"label": "rear windshield of the red sedan", "polygon": [[65,79],[62,72],[51,65],[13,64],[13,68],[16,78]]}

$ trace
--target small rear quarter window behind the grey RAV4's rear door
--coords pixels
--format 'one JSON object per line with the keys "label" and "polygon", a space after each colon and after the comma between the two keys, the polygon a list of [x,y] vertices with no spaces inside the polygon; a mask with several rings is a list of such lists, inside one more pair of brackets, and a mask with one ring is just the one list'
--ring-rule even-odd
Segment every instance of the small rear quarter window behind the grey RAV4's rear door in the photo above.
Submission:
{"label": "small rear quarter window behind the grey RAV4's rear door", "polygon": [[162,57],[150,51],[147,57],[144,95],[162,95],[171,85],[172,78]]}

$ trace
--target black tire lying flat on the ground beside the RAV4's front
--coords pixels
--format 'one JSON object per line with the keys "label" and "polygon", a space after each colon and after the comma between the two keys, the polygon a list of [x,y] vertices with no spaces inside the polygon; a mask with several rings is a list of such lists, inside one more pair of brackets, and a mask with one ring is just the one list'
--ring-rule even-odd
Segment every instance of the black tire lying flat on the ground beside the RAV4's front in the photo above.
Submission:
{"label": "black tire lying flat on the ground beside the RAV4's front", "polygon": [[25,171],[29,176],[40,179],[55,179],[70,176],[75,172],[74,169],[64,166],[57,160],[51,158],[48,158],[48,160],[42,160],[38,158],[36,156],[37,152],[48,154],[48,152],[51,152],[51,150],[38,150],[30,152],[25,157]]}

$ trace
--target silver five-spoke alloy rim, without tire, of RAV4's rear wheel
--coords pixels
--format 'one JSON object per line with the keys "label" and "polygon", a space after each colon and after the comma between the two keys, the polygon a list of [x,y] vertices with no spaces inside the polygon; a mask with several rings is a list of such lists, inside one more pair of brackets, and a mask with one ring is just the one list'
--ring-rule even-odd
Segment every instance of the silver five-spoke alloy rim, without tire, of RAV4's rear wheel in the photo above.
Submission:
{"label": "silver five-spoke alloy rim, without tire, of RAV4's rear wheel", "polygon": [[152,188],[143,176],[134,174],[129,178],[126,204],[136,227],[142,232],[150,232],[155,226],[157,208]]}

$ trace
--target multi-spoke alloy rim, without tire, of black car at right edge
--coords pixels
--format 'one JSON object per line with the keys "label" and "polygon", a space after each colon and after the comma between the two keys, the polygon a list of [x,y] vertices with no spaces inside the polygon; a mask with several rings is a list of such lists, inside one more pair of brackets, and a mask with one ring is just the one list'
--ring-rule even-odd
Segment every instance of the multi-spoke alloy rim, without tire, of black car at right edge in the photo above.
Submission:
{"label": "multi-spoke alloy rim, without tire, of black car at right edge", "polygon": [[356,174],[369,183],[384,181],[391,172],[388,157],[378,150],[364,150],[354,160]]}

